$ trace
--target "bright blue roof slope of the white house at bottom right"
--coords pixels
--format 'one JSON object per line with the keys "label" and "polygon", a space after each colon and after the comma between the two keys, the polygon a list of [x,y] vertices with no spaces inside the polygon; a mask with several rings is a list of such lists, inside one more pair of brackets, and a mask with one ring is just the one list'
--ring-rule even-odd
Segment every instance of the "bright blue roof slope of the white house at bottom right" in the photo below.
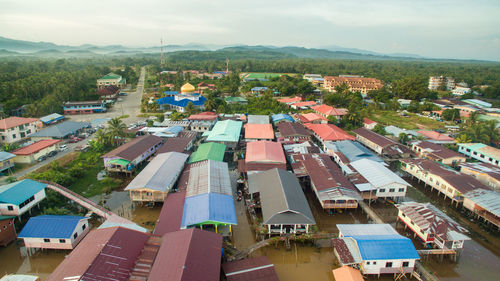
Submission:
{"label": "bright blue roof slope of the white house at bottom right", "polygon": [[358,245],[363,260],[419,259],[410,239],[401,235],[350,236]]}

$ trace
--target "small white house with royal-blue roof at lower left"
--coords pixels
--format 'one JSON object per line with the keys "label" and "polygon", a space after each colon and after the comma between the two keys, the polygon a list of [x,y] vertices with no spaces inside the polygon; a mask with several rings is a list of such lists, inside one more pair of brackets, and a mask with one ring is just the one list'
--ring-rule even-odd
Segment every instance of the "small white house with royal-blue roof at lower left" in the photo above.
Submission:
{"label": "small white house with royal-blue roof at lower left", "polygon": [[43,215],[28,220],[18,238],[26,248],[72,250],[89,232],[89,218]]}

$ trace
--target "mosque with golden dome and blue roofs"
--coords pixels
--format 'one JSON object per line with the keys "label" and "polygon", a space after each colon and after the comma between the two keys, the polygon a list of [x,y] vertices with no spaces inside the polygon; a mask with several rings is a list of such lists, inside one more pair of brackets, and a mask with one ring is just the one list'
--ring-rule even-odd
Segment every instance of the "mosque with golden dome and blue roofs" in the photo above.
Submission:
{"label": "mosque with golden dome and blue roofs", "polygon": [[195,107],[203,110],[207,98],[200,95],[200,93],[195,93],[195,90],[193,85],[186,83],[181,87],[180,93],[177,91],[166,91],[166,97],[160,98],[156,102],[162,110],[175,109],[178,112],[184,113],[189,102],[192,102]]}

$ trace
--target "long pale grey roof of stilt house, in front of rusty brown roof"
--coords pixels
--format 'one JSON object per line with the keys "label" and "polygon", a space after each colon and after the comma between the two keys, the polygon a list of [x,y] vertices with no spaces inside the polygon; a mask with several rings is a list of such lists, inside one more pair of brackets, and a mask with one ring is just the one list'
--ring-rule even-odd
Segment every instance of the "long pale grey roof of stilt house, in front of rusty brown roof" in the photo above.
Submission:
{"label": "long pale grey roof of stilt house, in front of rusty brown roof", "polygon": [[187,154],[167,152],[156,156],[125,188],[125,190],[151,189],[167,192],[179,178]]}

